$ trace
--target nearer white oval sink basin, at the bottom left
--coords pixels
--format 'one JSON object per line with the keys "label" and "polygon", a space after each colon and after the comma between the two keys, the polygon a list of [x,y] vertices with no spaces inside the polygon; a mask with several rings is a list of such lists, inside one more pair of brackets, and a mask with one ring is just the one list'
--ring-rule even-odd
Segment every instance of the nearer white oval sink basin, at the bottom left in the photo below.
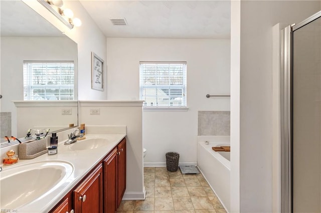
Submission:
{"label": "nearer white oval sink basin, at the bottom left", "polygon": [[50,160],[28,163],[0,173],[0,208],[17,209],[59,187],[73,172],[71,163]]}

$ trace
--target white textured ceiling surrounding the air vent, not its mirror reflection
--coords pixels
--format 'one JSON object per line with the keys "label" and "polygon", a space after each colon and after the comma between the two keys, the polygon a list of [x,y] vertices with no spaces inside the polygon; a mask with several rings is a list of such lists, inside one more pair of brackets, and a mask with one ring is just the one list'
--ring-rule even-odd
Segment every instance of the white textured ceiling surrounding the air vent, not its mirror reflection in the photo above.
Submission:
{"label": "white textured ceiling surrounding the air vent, not its mirror reflection", "polygon": [[[230,0],[80,0],[106,37],[230,38]],[[109,18],[124,17],[127,25]]]}

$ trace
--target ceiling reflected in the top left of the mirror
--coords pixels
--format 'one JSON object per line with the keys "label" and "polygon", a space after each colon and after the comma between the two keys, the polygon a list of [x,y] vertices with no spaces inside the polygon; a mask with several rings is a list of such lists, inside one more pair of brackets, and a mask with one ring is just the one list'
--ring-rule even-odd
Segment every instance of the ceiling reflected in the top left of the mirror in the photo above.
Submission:
{"label": "ceiling reflected in the top left of the mirror", "polygon": [[65,36],[21,0],[0,0],[1,36]]}

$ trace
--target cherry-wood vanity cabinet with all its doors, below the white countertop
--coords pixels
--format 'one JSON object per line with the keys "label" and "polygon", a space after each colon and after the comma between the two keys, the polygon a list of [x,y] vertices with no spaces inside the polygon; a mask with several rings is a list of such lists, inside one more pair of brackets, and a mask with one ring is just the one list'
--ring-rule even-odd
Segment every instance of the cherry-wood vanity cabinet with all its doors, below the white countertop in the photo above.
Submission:
{"label": "cherry-wood vanity cabinet with all its doors, below the white countertop", "polygon": [[50,212],[114,213],[125,189],[126,139],[123,138]]}

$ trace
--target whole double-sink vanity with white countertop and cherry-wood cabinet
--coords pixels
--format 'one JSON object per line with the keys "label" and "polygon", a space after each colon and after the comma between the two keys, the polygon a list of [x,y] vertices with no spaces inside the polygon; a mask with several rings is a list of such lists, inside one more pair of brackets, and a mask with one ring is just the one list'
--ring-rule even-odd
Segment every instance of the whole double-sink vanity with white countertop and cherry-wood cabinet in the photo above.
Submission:
{"label": "whole double-sink vanity with white countertop and cherry-wood cabinet", "polygon": [[115,212],[126,188],[126,134],[86,134],[0,173],[1,212]]}

